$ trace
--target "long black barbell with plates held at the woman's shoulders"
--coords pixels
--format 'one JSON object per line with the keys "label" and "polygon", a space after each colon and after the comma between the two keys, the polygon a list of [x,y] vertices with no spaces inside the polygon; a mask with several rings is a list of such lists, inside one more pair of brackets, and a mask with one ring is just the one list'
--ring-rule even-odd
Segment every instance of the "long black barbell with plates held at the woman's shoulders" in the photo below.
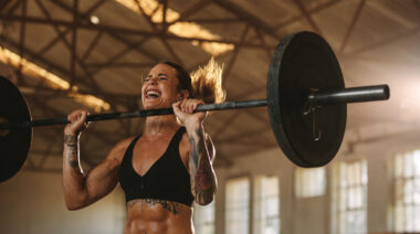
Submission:
{"label": "long black barbell with plates held at the woman's shoulders", "polygon": [[[327,42],[312,32],[284,38],[272,57],[266,99],[203,104],[196,111],[267,106],[275,139],[284,155],[305,168],[322,167],[337,153],[346,128],[347,103],[389,98],[388,85],[345,88],[338,61]],[[24,97],[0,78],[0,182],[25,161],[32,127],[64,125],[64,118],[32,120]],[[87,121],[171,115],[172,108],[87,116]]]}

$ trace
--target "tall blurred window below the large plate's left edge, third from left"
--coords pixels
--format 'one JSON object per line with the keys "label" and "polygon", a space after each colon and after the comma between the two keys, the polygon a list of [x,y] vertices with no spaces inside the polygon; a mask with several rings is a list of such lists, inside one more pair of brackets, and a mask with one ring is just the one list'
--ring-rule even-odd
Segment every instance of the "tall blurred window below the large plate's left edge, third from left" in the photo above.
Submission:
{"label": "tall blurred window below the large plate's left edge, third from left", "polygon": [[255,178],[253,234],[280,233],[279,178]]}

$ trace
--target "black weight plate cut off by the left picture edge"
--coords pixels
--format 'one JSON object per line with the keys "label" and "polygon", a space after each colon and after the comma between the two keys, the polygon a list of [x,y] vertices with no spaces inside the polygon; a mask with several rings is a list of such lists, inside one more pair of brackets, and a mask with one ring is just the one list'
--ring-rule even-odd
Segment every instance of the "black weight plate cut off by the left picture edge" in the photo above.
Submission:
{"label": "black weight plate cut off by the left picture edge", "polygon": [[[0,76],[0,119],[9,123],[31,120],[27,102],[19,89]],[[13,177],[23,166],[31,147],[32,128],[10,129],[0,136],[0,182]]]}

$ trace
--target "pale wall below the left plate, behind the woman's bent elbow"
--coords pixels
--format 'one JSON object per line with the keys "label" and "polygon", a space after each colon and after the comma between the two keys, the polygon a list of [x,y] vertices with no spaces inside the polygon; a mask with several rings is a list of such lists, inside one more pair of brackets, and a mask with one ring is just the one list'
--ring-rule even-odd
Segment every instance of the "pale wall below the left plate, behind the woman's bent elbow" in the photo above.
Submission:
{"label": "pale wall below the left plate, behind the woman's bent elbow", "polygon": [[61,174],[20,171],[0,183],[0,233],[4,234],[120,234],[125,198],[119,187],[97,203],[67,211]]}

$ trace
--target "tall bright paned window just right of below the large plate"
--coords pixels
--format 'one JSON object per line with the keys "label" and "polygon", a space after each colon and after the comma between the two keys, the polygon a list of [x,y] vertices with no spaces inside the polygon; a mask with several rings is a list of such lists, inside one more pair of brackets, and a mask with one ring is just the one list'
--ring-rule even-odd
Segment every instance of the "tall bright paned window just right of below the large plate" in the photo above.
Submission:
{"label": "tall bright paned window just right of below the large plate", "polygon": [[366,161],[335,164],[333,176],[332,233],[367,233]]}

